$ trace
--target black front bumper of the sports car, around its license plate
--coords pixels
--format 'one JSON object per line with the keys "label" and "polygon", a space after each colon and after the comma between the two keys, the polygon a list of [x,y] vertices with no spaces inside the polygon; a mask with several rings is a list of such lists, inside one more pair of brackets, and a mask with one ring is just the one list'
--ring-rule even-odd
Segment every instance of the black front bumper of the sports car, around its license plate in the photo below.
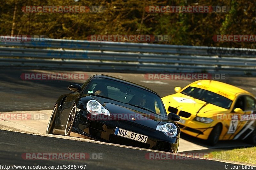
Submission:
{"label": "black front bumper of the sports car, around its license plate", "polygon": [[[71,131],[79,133],[80,135],[115,144],[173,153],[177,153],[178,151],[180,131],[177,137],[171,138],[159,130],[148,128],[137,123],[131,123],[124,120],[94,121],[87,119],[85,116],[87,114],[85,113],[78,115],[80,116],[76,117]],[[147,143],[115,135],[114,132],[116,127],[148,136]]]}

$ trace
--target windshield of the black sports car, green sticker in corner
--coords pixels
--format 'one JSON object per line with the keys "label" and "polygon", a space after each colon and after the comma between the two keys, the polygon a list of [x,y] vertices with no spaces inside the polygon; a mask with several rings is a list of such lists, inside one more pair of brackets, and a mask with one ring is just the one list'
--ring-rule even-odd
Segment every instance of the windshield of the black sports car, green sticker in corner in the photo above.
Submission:
{"label": "windshield of the black sports car, green sticker in corner", "polygon": [[85,94],[110,98],[134,107],[144,108],[154,114],[166,116],[159,96],[143,88],[108,78],[93,79],[85,87]]}

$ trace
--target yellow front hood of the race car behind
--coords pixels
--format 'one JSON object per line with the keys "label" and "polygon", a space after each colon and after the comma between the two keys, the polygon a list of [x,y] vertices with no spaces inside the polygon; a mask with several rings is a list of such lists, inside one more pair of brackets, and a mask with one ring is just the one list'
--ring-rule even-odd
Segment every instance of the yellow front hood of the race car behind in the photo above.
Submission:
{"label": "yellow front hood of the race car behind", "polygon": [[216,113],[223,113],[228,111],[228,109],[218,107],[213,104],[206,104],[202,100],[195,99],[193,97],[187,96],[185,94],[176,93],[162,98],[166,109],[169,106],[177,108],[179,110],[188,112],[192,115],[211,117],[211,115]]}

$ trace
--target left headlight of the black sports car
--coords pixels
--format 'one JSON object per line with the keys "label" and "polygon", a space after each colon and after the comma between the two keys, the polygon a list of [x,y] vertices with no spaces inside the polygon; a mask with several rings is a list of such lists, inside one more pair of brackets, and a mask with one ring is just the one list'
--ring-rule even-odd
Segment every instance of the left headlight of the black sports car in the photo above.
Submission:
{"label": "left headlight of the black sports car", "polygon": [[103,115],[108,115],[109,111],[107,109],[105,109],[98,101],[96,100],[89,100],[87,102],[87,107],[86,109],[88,110],[88,112],[90,112],[92,115],[99,115],[99,114],[103,114]]}

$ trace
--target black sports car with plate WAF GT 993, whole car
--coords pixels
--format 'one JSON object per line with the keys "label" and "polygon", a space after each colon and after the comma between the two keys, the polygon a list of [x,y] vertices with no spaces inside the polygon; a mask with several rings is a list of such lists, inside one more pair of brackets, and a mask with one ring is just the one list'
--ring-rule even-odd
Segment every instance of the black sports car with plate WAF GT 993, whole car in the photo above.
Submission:
{"label": "black sports car with plate WAF GT 993, whole car", "polygon": [[164,109],[150,89],[106,75],[94,75],[82,87],[59,97],[47,134],[93,138],[100,141],[177,153],[180,117]]}

